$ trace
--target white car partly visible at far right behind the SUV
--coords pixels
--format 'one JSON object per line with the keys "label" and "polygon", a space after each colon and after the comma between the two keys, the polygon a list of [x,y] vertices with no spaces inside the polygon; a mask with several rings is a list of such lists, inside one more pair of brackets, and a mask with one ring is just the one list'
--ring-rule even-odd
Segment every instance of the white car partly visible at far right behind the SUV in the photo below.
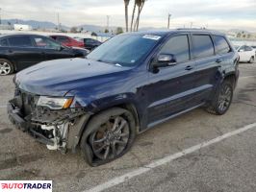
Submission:
{"label": "white car partly visible at far right behind the SUV", "polygon": [[252,47],[243,45],[236,48],[239,52],[240,61],[252,63],[255,60],[255,50]]}

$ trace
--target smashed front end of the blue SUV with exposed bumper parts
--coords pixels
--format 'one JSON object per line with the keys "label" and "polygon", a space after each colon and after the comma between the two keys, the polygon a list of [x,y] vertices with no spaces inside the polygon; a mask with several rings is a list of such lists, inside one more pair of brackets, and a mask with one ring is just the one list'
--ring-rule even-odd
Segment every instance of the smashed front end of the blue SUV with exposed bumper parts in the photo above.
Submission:
{"label": "smashed front end of the blue SUV with exposed bumper parts", "polygon": [[51,109],[38,107],[39,96],[21,90],[8,104],[11,122],[21,131],[28,132],[49,150],[75,152],[89,120],[85,108]]}

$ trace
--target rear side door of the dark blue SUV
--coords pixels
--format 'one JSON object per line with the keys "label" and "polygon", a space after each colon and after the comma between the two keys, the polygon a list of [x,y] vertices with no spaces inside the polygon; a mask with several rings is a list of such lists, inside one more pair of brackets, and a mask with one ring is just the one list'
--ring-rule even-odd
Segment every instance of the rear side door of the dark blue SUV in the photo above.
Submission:
{"label": "rear side door of the dark blue SUV", "polygon": [[[216,39],[219,44],[219,40]],[[221,46],[221,45],[220,45]],[[219,47],[219,45],[218,45]],[[204,102],[209,99],[218,77],[220,64],[225,58],[215,55],[214,39],[208,34],[192,34],[192,57],[195,62],[196,100]]]}

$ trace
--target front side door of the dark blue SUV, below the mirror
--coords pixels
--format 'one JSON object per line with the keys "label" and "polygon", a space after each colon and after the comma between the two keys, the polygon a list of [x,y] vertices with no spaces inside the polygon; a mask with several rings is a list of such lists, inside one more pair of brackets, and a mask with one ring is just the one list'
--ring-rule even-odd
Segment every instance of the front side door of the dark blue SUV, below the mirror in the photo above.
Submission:
{"label": "front side door of the dark blue SUV, below the mirror", "polygon": [[162,54],[173,55],[177,62],[173,66],[159,68],[157,73],[149,73],[149,85],[146,88],[148,127],[196,105],[192,101],[195,62],[190,56],[189,35],[171,36],[158,56]]}

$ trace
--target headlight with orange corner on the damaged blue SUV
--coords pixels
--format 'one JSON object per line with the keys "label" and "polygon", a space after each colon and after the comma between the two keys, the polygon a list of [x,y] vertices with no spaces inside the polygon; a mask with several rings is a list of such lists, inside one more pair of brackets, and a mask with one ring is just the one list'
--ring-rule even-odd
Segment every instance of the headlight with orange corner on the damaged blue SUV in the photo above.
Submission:
{"label": "headlight with orange corner on the damaged blue SUV", "polygon": [[69,108],[72,104],[72,101],[73,98],[40,96],[38,99],[38,106],[48,107],[51,109]]}

